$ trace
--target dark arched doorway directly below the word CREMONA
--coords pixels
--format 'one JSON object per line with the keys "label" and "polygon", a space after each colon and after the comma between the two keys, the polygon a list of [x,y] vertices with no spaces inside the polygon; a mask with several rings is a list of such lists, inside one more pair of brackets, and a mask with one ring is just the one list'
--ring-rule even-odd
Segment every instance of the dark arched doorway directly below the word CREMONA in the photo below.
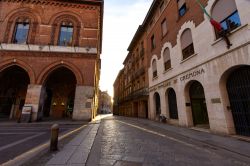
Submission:
{"label": "dark arched doorway directly below the word CREMONA", "polygon": [[194,126],[205,127],[209,125],[206,98],[203,86],[198,81],[193,81],[189,87],[189,96]]}

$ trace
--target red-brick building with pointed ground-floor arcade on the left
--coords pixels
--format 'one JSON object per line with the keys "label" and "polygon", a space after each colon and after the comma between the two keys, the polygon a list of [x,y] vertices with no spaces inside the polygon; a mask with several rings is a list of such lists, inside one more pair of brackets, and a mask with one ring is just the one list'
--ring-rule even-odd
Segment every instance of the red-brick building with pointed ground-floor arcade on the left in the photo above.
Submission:
{"label": "red-brick building with pointed ground-floor arcade on the left", "polygon": [[92,119],[102,21],[102,0],[1,1],[0,116]]}

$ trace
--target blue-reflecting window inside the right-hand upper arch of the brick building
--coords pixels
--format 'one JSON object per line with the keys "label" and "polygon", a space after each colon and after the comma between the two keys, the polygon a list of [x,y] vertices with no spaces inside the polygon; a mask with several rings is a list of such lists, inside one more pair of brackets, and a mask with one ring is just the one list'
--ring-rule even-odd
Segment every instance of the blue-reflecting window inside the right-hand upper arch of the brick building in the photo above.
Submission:
{"label": "blue-reflecting window inside the right-hand upper arch of the brick building", "polygon": [[64,23],[60,27],[60,37],[59,43],[60,46],[71,46],[73,41],[73,25],[71,23],[65,25]]}

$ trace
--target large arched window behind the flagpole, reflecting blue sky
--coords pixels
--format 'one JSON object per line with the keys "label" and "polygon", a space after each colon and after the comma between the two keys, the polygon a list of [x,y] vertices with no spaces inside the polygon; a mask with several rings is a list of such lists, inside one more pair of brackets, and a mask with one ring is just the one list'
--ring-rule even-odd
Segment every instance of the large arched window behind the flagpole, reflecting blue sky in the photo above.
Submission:
{"label": "large arched window behind the flagpole, reflecting blue sky", "polygon": [[213,7],[212,17],[221,23],[224,30],[232,31],[241,25],[235,0],[218,0]]}

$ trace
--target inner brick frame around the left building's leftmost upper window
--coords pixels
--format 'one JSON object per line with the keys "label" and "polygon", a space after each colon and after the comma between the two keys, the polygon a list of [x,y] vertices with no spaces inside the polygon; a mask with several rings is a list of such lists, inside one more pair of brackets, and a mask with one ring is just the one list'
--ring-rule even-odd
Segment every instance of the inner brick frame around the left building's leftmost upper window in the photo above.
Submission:
{"label": "inner brick frame around the left building's leftmost upper window", "polygon": [[32,13],[17,12],[8,19],[4,43],[14,43],[14,35],[16,33],[16,24],[29,20],[29,32],[27,35],[26,44],[35,44],[36,32],[38,29],[38,19]]}

